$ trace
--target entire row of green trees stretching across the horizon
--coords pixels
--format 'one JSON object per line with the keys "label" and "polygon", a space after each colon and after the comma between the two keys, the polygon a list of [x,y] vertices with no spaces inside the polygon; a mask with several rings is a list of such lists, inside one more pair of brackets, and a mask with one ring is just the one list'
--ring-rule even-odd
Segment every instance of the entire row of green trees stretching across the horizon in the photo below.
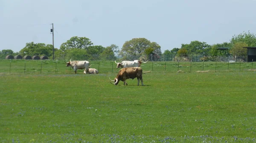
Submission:
{"label": "entire row of green trees stretching across the horizon", "polygon": [[[26,43],[26,46],[19,52],[12,50],[1,50],[0,59],[7,55],[21,56],[48,56],[52,58],[52,45],[44,43]],[[204,55],[207,58],[215,56],[234,56],[242,58],[247,55],[247,49],[243,47],[256,47],[256,35],[243,32],[234,35],[230,42],[217,43],[209,45],[206,42],[191,41],[189,44],[181,44],[180,48],[172,48],[161,52],[161,46],[157,42],[151,42],[145,38],[133,38],[126,41],[121,50],[115,44],[103,47],[102,45],[93,45],[93,42],[87,37],[73,36],[67,42],[61,44],[60,48],[55,48],[55,59],[86,59],[86,60],[115,60],[118,57],[134,57],[132,59],[157,60],[162,54],[176,55],[186,57],[188,55]],[[228,48],[227,50],[218,50],[219,48]]]}

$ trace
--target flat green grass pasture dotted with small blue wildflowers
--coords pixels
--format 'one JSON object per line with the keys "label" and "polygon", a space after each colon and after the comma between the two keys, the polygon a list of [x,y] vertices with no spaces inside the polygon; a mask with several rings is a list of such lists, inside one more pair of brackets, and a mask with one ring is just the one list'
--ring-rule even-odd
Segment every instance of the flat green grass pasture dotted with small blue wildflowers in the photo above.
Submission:
{"label": "flat green grass pasture dotted with small blue wildflowers", "polygon": [[108,76],[119,69],[113,64],[112,71],[112,62],[94,62],[98,75],[74,74],[63,61],[56,73],[53,61],[43,61],[41,73],[41,61],[26,61],[24,74],[24,62],[12,61],[9,74],[10,61],[0,61],[1,143],[256,142],[251,63],[240,72],[239,63],[228,71],[218,63],[223,69],[214,72],[215,63],[204,62],[212,64],[205,73],[196,72],[202,62],[192,63],[192,72],[181,66],[179,73],[177,63],[165,70],[165,62],[154,62],[143,74],[145,86],[137,79],[114,86]]}

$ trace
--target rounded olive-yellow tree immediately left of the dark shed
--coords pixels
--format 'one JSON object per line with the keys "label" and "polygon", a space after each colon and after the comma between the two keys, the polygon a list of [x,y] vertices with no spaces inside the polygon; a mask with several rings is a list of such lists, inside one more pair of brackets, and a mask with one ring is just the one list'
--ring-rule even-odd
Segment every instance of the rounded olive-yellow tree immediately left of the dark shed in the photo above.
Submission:
{"label": "rounded olive-yellow tree immediately left of the dark shed", "polygon": [[230,49],[230,53],[235,56],[235,58],[244,58],[247,55],[247,49],[243,47],[248,47],[245,42],[236,42]]}

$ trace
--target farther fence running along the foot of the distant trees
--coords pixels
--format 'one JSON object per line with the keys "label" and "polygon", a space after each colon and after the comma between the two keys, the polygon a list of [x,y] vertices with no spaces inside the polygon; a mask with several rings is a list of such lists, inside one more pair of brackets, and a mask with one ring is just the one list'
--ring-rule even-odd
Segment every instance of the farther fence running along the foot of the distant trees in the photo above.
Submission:
{"label": "farther fence running along the foot of the distant trees", "polygon": [[[16,55],[20,56],[20,55]],[[12,59],[15,59],[16,56],[9,55],[9,57],[12,57]],[[25,57],[25,56],[24,56]],[[25,59],[25,58],[21,59]],[[26,56],[27,57],[27,56]],[[31,57],[31,56],[29,56]],[[35,57],[35,56],[32,56]],[[32,59],[31,57],[31,59]],[[43,56],[41,56],[43,57]],[[1,57],[0,57],[1,59]],[[3,56],[2,56],[2,59]],[[7,56],[6,56],[7,59]],[[52,57],[47,57],[47,59],[52,59]],[[206,61],[211,61],[211,62],[229,62],[229,61],[236,61],[236,62],[244,62],[247,61],[247,56],[242,56],[242,57],[234,57],[234,56],[206,56],[206,55],[201,55],[201,54],[137,54],[137,55],[127,55],[127,54],[118,54],[115,56],[110,56],[110,55],[100,55],[100,54],[91,54],[91,55],[82,55],[82,54],[63,54],[63,55],[58,55],[55,56],[55,60],[67,60],[67,59],[73,59],[73,60],[87,60],[87,61],[121,61],[121,60],[128,60],[128,61],[133,61],[133,60],[140,60],[140,61],[151,61],[151,62],[157,62],[157,61],[174,61],[174,62],[206,62]]]}

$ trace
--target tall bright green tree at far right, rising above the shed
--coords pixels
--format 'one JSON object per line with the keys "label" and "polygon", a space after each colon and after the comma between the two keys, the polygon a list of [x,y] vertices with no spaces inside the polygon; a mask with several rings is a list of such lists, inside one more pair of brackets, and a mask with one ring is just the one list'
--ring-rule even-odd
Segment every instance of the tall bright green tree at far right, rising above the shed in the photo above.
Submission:
{"label": "tall bright green tree at far right, rising above the shed", "polygon": [[237,42],[244,42],[248,47],[256,47],[256,35],[250,33],[250,31],[248,31],[248,33],[243,32],[241,34],[234,35],[232,39],[230,39],[230,43],[233,46]]}

